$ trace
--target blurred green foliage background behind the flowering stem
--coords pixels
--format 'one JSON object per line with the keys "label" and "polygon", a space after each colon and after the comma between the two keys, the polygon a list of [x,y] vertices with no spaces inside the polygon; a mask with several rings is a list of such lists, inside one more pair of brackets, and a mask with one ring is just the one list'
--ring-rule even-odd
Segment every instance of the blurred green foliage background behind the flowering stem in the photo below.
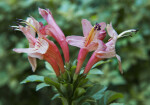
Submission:
{"label": "blurred green foliage background behind the flowering stem", "polygon": [[[17,25],[17,19],[33,16],[46,24],[38,7],[52,11],[66,36],[82,35],[81,19],[88,19],[93,25],[112,22],[118,33],[138,28],[138,33],[117,42],[124,74],[119,73],[114,58],[100,67],[104,75],[93,77],[92,81],[123,93],[124,98],[118,102],[125,105],[150,104],[150,0],[3,0],[0,1],[0,105],[60,105],[59,99],[50,100],[54,95],[51,88],[36,92],[36,84],[20,84],[28,75],[44,75],[44,61],[38,60],[38,69],[33,73],[27,55],[12,51],[15,47],[28,47],[24,35],[10,28]],[[78,51],[70,47],[71,60],[77,58]]]}

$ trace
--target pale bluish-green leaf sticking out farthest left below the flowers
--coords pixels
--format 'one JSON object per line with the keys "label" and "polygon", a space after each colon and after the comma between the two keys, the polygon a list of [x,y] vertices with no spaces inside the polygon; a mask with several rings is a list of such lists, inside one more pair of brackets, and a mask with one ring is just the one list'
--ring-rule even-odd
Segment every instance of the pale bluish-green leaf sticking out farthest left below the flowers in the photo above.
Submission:
{"label": "pale bluish-green leaf sticking out farthest left below the flowers", "polygon": [[21,84],[28,82],[44,82],[44,77],[39,75],[30,75],[24,79]]}

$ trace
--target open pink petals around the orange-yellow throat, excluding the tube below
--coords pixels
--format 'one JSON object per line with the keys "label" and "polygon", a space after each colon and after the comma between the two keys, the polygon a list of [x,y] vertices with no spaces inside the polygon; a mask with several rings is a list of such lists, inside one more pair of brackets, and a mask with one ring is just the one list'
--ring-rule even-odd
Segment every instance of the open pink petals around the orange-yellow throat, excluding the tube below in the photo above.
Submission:
{"label": "open pink petals around the orange-yellow throat, excluding the tube below", "polygon": [[93,27],[88,20],[82,19],[82,29],[84,37],[72,35],[68,36],[66,40],[68,44],[72,46],[84,48],[88,51],[93,51],[97,49],[97,40],[99,40],[98,38],[102,40],[105,38],[105,27],[106,24],[104,22],[96,24]]}

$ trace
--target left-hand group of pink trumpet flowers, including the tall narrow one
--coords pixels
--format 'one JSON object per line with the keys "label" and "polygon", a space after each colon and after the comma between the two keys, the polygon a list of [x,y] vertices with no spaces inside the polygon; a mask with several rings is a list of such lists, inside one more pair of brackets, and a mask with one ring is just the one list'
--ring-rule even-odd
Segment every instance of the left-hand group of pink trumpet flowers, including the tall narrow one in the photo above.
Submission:
{"label": "left-hand group of pink trumpet flowers, including the tall narrow one", "polygon": [[[63,50],[65,62],[69,63],[69,48],[66,42],[65,35],[56,24],[49,10],[39,8],[39,13],[47,21],[48,25],[44,26],[33,17],[27,18],[26,21],[21,21],[21,24],[26,26],[12,26],[16,30],[22,31],[29,41],[29,48],[18,48],[13,51],[18,53],[27,53],[28,60],[32,66],[32,70],[36,70],[36,58],[44,59],[51,64],[57,76],[65,72],[63,59],[57,46],[53,41],[47,38],[47,35],[52,36],[60,44]],[[36,37],[36,34],[38,37]]]}

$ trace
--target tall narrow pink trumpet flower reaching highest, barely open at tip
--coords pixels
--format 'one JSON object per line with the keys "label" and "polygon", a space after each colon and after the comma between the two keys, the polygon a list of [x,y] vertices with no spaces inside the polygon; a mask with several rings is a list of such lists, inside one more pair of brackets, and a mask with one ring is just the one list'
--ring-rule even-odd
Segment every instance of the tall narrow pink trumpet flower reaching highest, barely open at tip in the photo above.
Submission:
{"label": "tall narrow pink trumpet flower reaching highest, barely open at tip", "polygon": [[65,62],[68,63],[69,62],[69,48],[68,48],[68,44],[66,42],[64,33],[56,24],[52,16],[52,13],[49,11],[49,9],[44,10],[44,9],[39,8],[39,13],[48,23],[48,25],[46,25],[40,30],[41,33],[52,36],[60,44],[62,51],[64,53]]}

